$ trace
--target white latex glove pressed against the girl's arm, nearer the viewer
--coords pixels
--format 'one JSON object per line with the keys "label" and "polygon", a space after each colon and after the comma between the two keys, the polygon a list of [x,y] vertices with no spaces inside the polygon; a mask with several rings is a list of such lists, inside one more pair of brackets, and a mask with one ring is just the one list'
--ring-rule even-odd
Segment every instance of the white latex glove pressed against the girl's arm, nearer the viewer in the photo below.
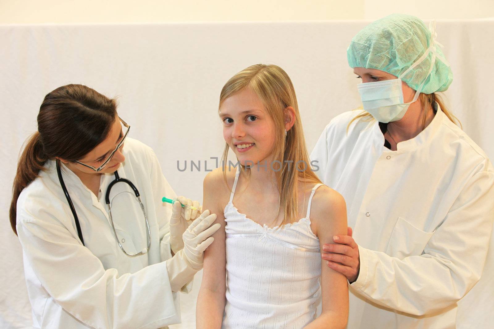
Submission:
{"label": "white latex glove pressed against the girl's arm, nearer the viewer", "polygon": [[209,210],[203,212],[184,232],[184,248],[166,261],[171,291],[180,291],[203,267],[204,251],[214,241],[211,235],[221,227],[220,223],[209,227],[215,219]]}

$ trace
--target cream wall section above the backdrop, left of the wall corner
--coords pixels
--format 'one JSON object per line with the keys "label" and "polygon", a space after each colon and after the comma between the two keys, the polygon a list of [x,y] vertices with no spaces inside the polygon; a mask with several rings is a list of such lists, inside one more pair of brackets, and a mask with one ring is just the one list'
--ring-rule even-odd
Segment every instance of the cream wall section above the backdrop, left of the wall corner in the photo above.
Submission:
{"label": "cream wall section above the backdrop, left of the wall corner", "polygon": [[0,23],[360,19],[364,0],[0,0]]}

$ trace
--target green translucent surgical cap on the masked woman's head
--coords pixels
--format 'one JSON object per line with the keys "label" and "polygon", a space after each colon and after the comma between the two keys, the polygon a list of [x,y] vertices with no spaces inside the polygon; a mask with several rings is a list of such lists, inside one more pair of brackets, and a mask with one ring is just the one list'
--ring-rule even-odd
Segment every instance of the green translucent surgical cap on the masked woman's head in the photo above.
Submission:
{"label": "green translucent surgical cap on the masked woman's head", "polygon": [[[435,23],[430,28],[431,31],[415,16],[393,14],[381,18],[352,38],[346,51],[348,64],[351,68],[391,73],[414,90],[424,83],[420,92],[425,94],[445,91],[453,81],[453,73],[439,47],[442,45],[435,40]],[[401,76],[415,63],[418,64]]]}

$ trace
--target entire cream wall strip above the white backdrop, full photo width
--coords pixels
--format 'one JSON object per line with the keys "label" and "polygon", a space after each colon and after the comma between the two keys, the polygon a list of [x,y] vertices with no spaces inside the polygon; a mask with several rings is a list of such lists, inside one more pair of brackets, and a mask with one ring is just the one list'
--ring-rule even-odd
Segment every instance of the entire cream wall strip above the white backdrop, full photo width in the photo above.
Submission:
{"label": "entire cream wall strip above the white backdrop, full photo width", "polygon": [[0,24],[494,17],[493,0],[0,0]]}

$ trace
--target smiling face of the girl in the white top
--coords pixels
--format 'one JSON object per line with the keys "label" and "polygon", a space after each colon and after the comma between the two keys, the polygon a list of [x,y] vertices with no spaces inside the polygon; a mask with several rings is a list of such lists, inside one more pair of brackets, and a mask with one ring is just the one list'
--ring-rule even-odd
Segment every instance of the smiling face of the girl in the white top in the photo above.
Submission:
{"label": "smiling face of the girl in the white top", "polygon": [[[220,107],[223,138],[242,165],[268,161],[275,146],[275,123],[257,95],[244,88],[230,96]],[[246,161],[252,161],[247,162]]]}

